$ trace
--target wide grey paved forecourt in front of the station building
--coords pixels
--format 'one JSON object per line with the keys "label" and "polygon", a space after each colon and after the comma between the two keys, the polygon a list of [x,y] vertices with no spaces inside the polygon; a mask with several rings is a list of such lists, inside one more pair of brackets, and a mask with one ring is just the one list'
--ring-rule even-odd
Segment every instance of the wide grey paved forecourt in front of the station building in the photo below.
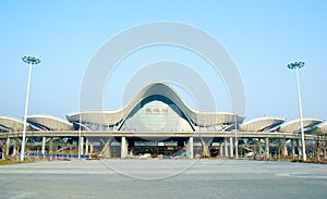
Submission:
{"label": "wide grey paved forecourt in front of the station building", "polygon": [[105,160],[0,166],[0,198],[326,198],[327,165]]}

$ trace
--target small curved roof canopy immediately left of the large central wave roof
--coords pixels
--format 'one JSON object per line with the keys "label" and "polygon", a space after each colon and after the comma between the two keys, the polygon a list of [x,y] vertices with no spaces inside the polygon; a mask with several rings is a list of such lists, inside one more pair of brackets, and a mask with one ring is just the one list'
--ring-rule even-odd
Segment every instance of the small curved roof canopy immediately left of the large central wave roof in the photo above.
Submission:
{"label": "small curved roof canopy immediately left of the large central wave roof", "polygon": [[51,115],[28,115],[27,122],[38,128],[50,129],[73,129],[73,124]]}

